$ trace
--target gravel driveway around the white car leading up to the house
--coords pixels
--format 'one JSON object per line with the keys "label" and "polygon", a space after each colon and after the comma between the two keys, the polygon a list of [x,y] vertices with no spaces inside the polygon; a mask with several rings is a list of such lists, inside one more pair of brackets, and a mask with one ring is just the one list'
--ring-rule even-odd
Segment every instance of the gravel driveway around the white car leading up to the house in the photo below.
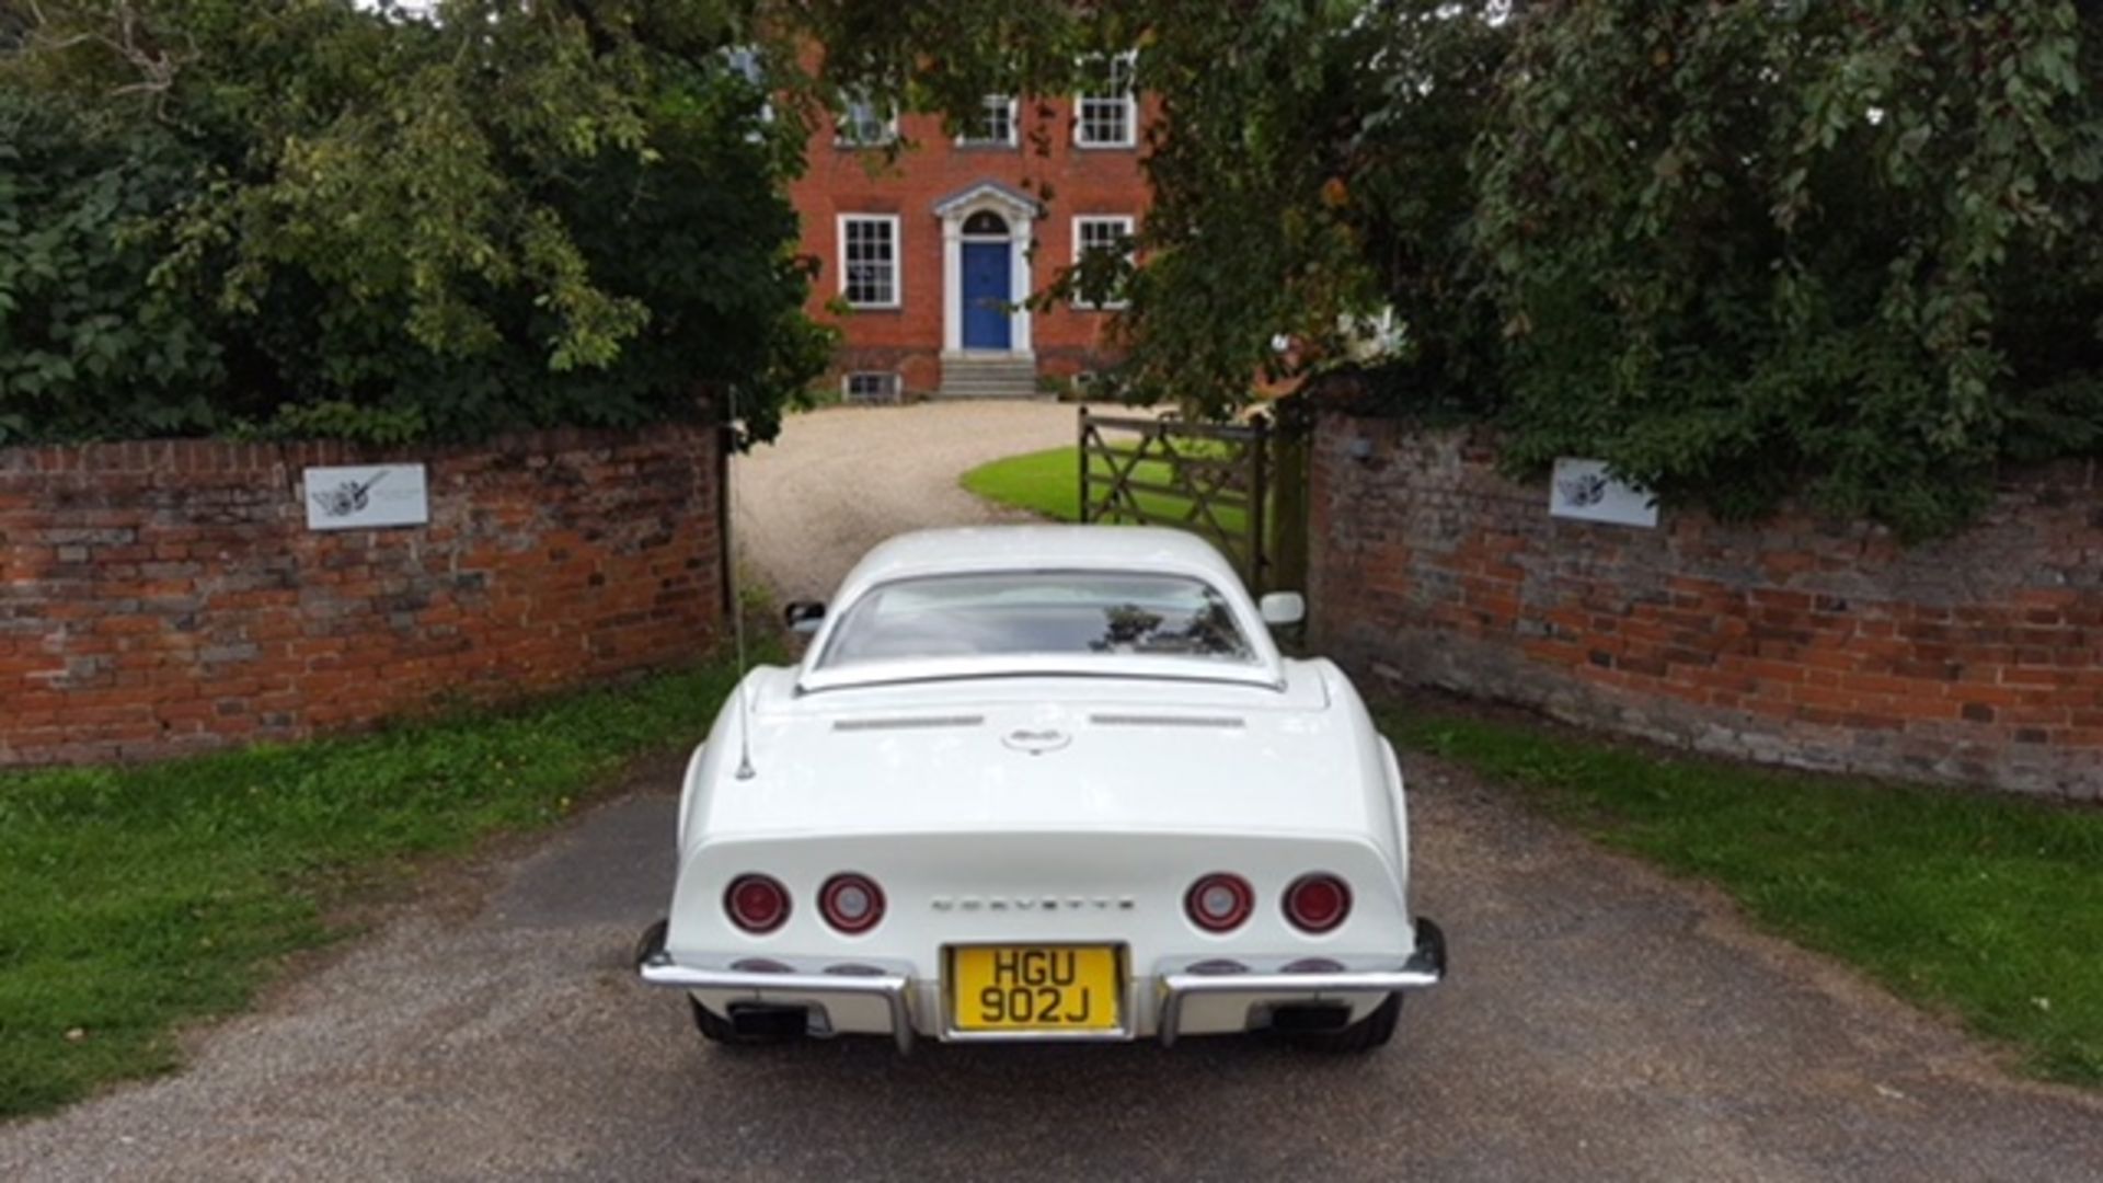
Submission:
{"label": "gravel driveway around the white car leading up to the house", "polygon": [[[824,592],[875,537],[984,520],[955,474],[1070,415],[797,419],[747,461],[751,562]],[[1714,893],[1405,764],[1453,977],[1373,1057],[705,1046],[627,968],[671,884],[658,760],[551,840],[433,871],[183,1074],[0,1126],[0,1179],[2103,1179],[2103,1097],[2015,1080]]]}

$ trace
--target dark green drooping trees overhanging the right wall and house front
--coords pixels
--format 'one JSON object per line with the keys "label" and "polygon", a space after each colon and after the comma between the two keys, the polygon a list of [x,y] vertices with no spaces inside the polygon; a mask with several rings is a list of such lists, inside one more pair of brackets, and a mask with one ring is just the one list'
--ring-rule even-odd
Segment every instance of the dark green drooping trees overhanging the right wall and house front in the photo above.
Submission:
{"label": "dark green drooping trees overhanging the right wall and house front", "polygon": [[1142,46],[1140,398],[1228,413],[1392,307],[1388,404],[1724,514],[1804,493],[1937,533],[2000,461],[2103,448],[2103,4],[791,8],[959,114]]}

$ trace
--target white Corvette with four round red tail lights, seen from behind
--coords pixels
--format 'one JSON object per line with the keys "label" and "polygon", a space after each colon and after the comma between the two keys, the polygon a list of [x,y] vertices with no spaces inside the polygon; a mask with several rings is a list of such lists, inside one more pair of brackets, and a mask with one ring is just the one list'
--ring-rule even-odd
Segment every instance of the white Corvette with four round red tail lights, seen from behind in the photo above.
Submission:
{"label": "white Corvette with four round red tail lights, seen from behind", "polygon": [[644,981],[726,1042],[1388,1042],[1445,939],[1394,751],[1270,640],[1300,610],[1176,530],[883,543],[694,751]]}

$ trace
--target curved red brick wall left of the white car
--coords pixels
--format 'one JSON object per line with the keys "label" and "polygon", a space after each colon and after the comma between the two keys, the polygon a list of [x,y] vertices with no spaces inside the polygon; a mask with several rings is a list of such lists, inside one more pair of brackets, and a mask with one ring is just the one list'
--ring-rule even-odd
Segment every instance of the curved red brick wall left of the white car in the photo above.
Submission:
{"label": "curved red brick wall left of the white car", "polygon": [[[309,533],[301,469],[423,461],[429,526]],[[667,667],[721,619],[715,434],[0,450],[0,764],[297,739]]]}

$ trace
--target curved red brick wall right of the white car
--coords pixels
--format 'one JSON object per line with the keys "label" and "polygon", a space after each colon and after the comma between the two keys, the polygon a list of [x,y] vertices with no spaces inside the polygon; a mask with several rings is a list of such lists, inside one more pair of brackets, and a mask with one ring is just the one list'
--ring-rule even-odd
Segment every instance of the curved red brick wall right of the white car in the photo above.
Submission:
{"label": "curved red brick wall right of the white car", "polygon": [[1809,768],[2103,800],[2103,476],[1964,535],[1548,516],[1466,432],[1340,413],[1312,448],[1314,629],[1377,676]]}

